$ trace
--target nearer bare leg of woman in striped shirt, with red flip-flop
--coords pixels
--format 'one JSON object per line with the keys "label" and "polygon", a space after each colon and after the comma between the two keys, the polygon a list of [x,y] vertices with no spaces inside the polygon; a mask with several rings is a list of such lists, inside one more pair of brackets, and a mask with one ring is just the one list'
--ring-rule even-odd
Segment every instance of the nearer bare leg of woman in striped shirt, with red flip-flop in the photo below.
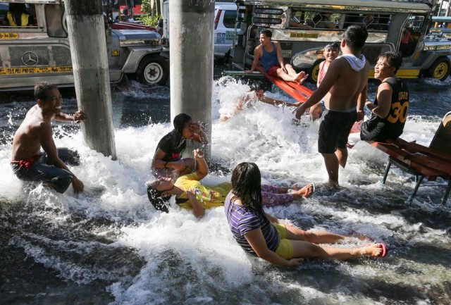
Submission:
{"label": "nearer bare leg of woman in striped shirt, with red flip-flop", "polygon": [[320,259],[354,259],[359,256],[380,256],[382,247],[380,244],[370,244],[366,247],[344,249],[337,247],[327,247],[300,240],[290,240],[293,245],[293,257],[305,259],[318,257]]}

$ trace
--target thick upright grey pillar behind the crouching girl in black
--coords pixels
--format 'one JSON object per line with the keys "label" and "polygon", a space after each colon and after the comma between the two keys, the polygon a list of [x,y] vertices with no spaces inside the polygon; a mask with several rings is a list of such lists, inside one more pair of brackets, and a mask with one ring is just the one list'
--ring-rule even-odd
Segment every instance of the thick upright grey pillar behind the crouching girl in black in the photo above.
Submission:
{"label": "thick upright grey pillar behind the crouching girl in black", "polygon": [[[211,143],[214,0],[169,1],[171,122],[179,113],[204,123]],[[190,146],[191,153],[197,145]],[[210,145],[203,149],[206,157]]]}

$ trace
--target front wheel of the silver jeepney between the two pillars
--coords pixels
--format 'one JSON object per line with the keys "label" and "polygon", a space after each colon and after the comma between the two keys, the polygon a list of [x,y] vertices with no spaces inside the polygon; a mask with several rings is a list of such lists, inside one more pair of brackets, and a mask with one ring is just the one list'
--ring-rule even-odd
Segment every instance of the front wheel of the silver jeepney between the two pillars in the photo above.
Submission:
{"label": "front wheel of the silver jeepney between the two pillars", "polygon": [[149,85],[164,85],[168,74],[168,66],[161,56],[143,58],[136,71],[138,80]]}

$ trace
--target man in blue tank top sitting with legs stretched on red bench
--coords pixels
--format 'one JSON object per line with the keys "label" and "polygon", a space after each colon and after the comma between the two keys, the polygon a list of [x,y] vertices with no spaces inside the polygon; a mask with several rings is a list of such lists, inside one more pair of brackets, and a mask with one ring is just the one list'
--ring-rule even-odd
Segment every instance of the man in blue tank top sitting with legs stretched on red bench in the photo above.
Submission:
{"label": "man in blue tank top sitting with legs stretched on red bench", "polygon": [[261,64],[268,75],[278,76],[287,82],[297,82],[302,84],[309,76],[304,71],[296,73],[290,64],[285,64],[282,57],[282,49],[278,42],[271,42],[273,33],[270,30],[262,30],[260,32],[260,44],[254,49],[254,61],[251,70],[245,71],[252,73]]}

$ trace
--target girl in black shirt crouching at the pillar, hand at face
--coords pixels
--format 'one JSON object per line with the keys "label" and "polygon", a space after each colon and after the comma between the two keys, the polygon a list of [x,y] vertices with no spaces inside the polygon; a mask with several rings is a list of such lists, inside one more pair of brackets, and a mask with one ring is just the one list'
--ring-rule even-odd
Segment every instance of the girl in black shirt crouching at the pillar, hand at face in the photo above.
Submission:
{"label": "girl in black shirt crouching at the pillar, hand at face", "polygon": [[152,173],[155,177],[178,177],[192,173],[196,162],[194,158],[182,158],[186,149],[186,140],[206,144],[209,142],[199,123],[180,113],[174,118],[174,130],[165,135],[156,147],[152,160]]}

